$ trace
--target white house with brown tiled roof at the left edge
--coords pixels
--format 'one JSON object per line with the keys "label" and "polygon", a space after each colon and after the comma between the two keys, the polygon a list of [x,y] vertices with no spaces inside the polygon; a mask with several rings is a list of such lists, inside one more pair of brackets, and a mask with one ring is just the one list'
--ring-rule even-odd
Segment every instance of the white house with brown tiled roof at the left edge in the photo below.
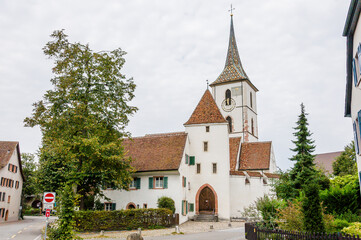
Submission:
{"label": "white house with brown tiled roof at the left edge", "polygon": [[19,219],[23,181],[19,143],[0,141],[0,223]]}

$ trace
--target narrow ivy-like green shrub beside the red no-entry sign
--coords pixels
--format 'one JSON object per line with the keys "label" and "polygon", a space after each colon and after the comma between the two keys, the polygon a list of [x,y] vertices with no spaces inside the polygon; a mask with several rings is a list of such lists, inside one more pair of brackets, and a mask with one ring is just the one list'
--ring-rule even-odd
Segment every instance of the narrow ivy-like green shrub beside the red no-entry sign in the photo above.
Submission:
{"label": "narrow ivy-like green shrub beside the red no-entry sign", "polygon": [[76,200],[70,185],[64,187],[58,194],[58,199],[60,200],[59,220],[49,231],[49,238],[51,240],[71,240],[74,237],[74,207]]}

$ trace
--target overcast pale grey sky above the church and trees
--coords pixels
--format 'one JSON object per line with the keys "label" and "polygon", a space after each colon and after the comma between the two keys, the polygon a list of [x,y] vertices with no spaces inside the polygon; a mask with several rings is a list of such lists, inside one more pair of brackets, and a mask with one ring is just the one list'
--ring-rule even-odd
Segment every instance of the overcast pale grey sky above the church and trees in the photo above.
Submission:
{"label": "overcast pale grey sky above the church and trees", "polygon": [[295,122],[304,102],[316,153],[352,140],[344,118],[350,1],[0,1],[0,140],[35,153],[39,128],[25,128],[32,103],[52,86],[43,46],[54,30],[95,51],[121,47],[123,73],[137,84],[133,136],[184,131],[206,89],[224,67],[233,4],[243,67],[257,93],[260,140],[272,140],[279,167],[292,166]]}

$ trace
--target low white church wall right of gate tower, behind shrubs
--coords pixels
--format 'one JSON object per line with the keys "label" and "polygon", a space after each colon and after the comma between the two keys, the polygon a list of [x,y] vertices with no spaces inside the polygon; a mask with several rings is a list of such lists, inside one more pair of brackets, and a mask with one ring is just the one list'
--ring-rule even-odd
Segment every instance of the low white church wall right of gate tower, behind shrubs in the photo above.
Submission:
{"label": "low white church wall right of gate tower, behind shrubs", "polygon": [[245,176],[230,176],[230,196],[231,196],[231,218],[241,218],[245,207],[248,207],[259,197],[265,194],[273,194],[271,182],[263,183],[260,177],[250,177],[250,183],[246,183]]}

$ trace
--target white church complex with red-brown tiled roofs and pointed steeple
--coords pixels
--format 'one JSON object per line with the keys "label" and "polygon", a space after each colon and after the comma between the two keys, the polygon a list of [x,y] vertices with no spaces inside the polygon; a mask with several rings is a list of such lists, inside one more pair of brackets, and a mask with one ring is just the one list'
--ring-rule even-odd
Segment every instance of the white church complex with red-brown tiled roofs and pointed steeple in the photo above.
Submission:
{"label": "white church complex with red-brown tiled roofs and pointed steeple", "polygon": [[231,26],[226,64],[196,105],[184,132],[124,140],[136,169],[130,190],[106,189],[105,210],[157,208],[175,202],[179,222],[241,217],[244,207],[272,194],[276,160],[271,141],[258,141],[256,94]]}

